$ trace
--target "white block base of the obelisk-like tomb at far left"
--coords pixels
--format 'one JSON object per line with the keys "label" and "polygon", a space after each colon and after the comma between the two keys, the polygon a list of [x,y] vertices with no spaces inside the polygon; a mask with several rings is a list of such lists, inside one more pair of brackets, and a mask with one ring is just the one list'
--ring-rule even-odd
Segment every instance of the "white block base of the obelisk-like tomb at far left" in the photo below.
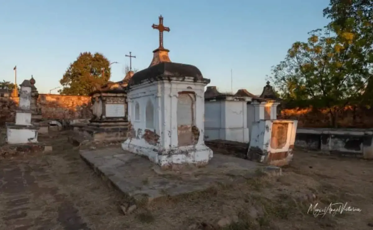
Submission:
{"label": "white block base of the obelisk-like tomb at far left", "polygon": [[34,125],[6,124],[6,140],[8,144],[27,144],[38,142],[38,129]]}

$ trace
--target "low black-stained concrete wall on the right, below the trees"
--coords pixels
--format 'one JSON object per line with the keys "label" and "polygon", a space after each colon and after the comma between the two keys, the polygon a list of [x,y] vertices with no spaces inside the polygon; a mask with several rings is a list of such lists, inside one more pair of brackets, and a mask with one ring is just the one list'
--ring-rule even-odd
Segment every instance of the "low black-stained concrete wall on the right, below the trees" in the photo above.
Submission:
{"label": "low black-stained concrete wall on the right, below the trees", "polygon": [[298,128],[295,147],[373,158],[373,129]]}

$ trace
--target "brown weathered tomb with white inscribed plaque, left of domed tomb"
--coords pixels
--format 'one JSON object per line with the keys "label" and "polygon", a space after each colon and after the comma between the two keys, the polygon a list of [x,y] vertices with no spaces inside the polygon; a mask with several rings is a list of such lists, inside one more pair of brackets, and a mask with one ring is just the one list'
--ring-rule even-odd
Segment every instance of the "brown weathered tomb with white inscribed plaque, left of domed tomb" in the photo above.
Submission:
{"label": "brown weathered tomb with white inscribed plaque, left of domed tomb", "polygon": [[128,130],[126,87],[134,72],[129,71],[119,82],[108,82],[93,91],[93,117],[87,126],[79,129],[83,135],[98,142],[124,141]]}

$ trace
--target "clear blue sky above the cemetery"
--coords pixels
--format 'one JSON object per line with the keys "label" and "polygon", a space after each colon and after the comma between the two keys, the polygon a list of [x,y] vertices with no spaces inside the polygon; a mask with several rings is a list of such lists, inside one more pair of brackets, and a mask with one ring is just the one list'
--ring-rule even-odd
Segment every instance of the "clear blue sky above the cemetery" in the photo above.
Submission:
{"label": "clear blue sky above the cemetery", "polygon": [[[220,91],[246,88],[260,94],[265,75],[295,41],[328,22],[328,0],[0,0],[0,81],[17,83],[34,75],[41,93],[60,86],[80,52],[103,53],[112,65],[111,81],[132,66],[149,66],[158,47],[151,28],[164,17],[170,32],[164,47],[173,62],[197,66]],[[55,90],[54,92],[57,92]]]}

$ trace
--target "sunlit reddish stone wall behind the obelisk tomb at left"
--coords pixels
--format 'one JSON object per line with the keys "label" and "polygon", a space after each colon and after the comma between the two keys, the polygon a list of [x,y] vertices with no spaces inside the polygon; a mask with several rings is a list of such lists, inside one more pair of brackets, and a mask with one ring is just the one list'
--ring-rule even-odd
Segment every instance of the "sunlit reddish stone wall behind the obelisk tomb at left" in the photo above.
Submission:
{"label": "sunlit reddish stone wall behind the obelisk tomb at left", "polygon": [[[0,98],[0,125],[15,121],[18,97]],[[73,120],[90,119],[91,99],[88,96],[40,94],[37,102],[43,119]]]}

